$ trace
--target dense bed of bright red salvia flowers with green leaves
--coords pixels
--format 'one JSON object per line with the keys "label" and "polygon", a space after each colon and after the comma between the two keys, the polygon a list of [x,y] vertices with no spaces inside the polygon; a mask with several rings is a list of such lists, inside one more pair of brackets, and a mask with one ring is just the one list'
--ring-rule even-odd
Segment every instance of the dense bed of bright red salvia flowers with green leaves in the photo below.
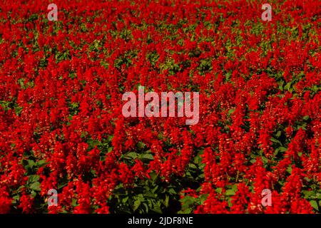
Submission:
{"label": "dense bed of bright red salvia flowers with green leaves", "polygon": [[[0,213],[319,212],[320,1],[50,3],[0,1]],[[138,86],[198,124],[123,117]]]}

